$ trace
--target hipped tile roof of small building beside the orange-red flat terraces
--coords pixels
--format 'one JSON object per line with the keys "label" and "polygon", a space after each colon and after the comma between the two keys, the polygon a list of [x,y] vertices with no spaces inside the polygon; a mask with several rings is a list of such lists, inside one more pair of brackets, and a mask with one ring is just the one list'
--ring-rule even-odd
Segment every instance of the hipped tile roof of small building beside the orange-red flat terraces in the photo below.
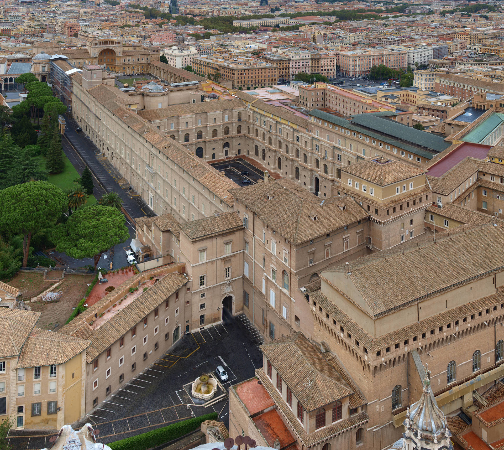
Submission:
{"label": "hipped tile roof of small building beside the orange-red flat terraces", "polygon": [[[261,346],[306,411],[329,405],[353,393],[327,357],[300,331]],[[295,364],[293,362],[295,361]]]}

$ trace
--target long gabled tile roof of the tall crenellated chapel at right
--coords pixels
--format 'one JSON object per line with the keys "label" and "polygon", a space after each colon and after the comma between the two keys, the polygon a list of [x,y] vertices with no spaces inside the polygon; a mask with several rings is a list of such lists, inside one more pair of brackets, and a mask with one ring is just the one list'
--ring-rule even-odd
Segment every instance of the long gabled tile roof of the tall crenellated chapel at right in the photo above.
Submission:
{"label": "long gabled tile roof of the tall crenellated chapel at right", "polygon": [[[484,254],[485,258],[475,258],[475,254]],[[451,233],[435,235],[435,242],[429,236],[381,255],[330,267],[322,275],[331,280],[333,272],[350,272],[346,275],[348,282],[362,296],[366,310],[375,316],[387,314],[470,277],[503,267],[504,226],[469,230],[460,227]],[[408,276],[404,267],[408,267]],[[460,267],[464,270],[459,270]]]}

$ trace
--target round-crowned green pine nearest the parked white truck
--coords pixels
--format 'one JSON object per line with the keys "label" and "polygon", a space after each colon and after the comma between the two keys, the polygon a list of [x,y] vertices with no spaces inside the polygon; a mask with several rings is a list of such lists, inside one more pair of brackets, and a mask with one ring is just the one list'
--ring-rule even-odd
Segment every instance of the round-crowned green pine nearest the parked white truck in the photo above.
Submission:
{"label": "round-crowned green pine nearest the parked white truck", "polygon": [[125,242],[130,234],[120,211],[110,206],[93,205],[75,211],[66,223],[52,233],[58,252],[72,258],[93,258],[94,267],[110,247]]}

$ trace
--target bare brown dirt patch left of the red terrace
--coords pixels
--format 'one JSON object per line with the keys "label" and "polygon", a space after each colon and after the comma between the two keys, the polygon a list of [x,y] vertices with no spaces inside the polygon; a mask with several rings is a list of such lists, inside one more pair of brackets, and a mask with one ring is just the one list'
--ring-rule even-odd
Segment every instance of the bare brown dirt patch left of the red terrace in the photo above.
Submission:
{"label": "bare brown dirt patch left of the red terrace", "polygon": [[[30,303],[32,311],[42,313],[37,322],[38,328],[58,330],[65,325],[65,322],[72,314],[73,308],[84,297],[84,293],[88,288],[88,283],[91,283],[94,275],[66,275],[65,280],[56,290],[61,289],[62,295],[58,302],[55,303]],[[55,284],[56,282],[52,282]],[[47,286],[48,287],[48,286]],[[44,288],[44,289],[47,289]],[[40,291],[42,292],[43,289]],[[58,326],[56,326],[58,324]]]}

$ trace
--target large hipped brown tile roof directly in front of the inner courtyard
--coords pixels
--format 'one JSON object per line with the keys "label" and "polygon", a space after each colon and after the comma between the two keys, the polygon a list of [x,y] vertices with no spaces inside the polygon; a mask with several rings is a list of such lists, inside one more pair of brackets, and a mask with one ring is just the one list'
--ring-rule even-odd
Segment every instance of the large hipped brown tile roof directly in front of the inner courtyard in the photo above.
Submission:
{"label": "large hipped brown tile roof directly in front of the inner courtyard", "polygon": [[350,197],[321,200],[287,179],[270,180],[267,183],[231,189],[230,192],[294,245],[368,216]]}

